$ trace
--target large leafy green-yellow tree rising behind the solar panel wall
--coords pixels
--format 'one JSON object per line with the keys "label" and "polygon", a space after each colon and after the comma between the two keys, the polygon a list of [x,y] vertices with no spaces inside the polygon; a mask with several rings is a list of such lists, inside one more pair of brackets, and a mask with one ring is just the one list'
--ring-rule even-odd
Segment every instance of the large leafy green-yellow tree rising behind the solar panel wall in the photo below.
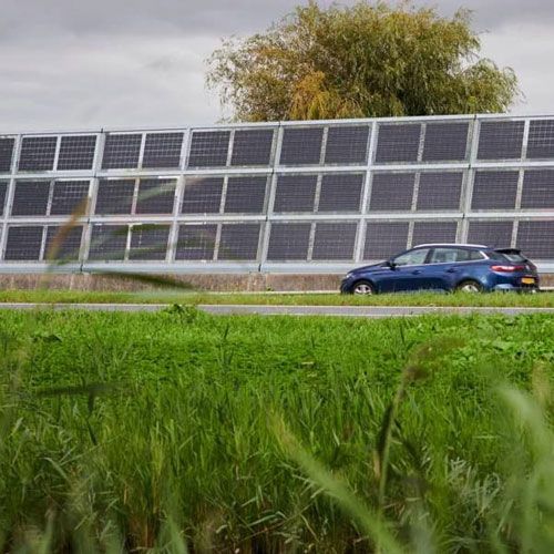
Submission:
{"label": "large leafy green-yellow tree rising behind the solar panel wall", "polygon": [[449,19],[409,1],[310,1],[264,33],[225,41],[206,81],[238,121],[504,112],[516,76],[480,49],[466,10]]}

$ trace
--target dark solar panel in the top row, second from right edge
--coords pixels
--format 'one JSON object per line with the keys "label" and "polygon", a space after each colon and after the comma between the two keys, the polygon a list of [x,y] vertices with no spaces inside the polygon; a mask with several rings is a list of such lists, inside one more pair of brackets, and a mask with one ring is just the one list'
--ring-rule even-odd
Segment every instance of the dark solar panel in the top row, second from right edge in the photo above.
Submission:
{"label": "dark solar panel in the top row, second from right edge", "polygon": [[483,121],[479,132],[479,160],[519,160],[523,121]]}

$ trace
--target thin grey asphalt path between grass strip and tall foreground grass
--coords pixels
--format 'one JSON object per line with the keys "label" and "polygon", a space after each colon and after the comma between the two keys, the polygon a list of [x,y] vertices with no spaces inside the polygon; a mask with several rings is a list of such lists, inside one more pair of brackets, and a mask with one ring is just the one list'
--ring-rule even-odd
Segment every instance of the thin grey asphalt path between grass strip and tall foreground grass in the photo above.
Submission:
{"label": "thin grey asphalt path between grass strip and tall foreground grass", "polygon": [[[166,304],[0,304],[0,309],[84,309],[89,311],[160,311]],[[339,317],[409,317],[423,314],[504,314],[519,316],[525,314],[552,314],[554,308],[449,308],[423,306],[249,306],[249,305],[199,305],[198,309],[208,314],[261,315],[261,316],[339,316]]]}

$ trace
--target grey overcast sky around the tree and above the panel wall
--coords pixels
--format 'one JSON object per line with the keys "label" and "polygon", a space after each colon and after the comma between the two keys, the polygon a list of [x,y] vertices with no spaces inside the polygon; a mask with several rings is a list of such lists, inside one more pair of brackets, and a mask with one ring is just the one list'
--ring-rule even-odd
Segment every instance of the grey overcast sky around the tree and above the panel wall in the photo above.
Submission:
{"label": "grey overcast sky around the tree and above the panel wall", "polygon": [[[0,133],[215,123],[205,59],[222,38],[261,31],[297,3],[0,0]],[[514,113],[554,113],[554,0],[431,3],[448,16],[474,10],[483,54],[520,78],[526,99]]]}

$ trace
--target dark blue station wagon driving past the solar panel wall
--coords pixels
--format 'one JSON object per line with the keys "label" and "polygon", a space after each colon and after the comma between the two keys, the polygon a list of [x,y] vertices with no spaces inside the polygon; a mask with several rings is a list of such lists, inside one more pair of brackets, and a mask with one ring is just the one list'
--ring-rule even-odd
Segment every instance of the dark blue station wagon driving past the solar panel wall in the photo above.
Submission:
{"label": "dark blue station wagon driving past the solar panel wall", "polygon": [[536,267],[515,248],[425,244],[387,261],[359,267],[340,291],[355,295],[412,290],[538,290]]}

